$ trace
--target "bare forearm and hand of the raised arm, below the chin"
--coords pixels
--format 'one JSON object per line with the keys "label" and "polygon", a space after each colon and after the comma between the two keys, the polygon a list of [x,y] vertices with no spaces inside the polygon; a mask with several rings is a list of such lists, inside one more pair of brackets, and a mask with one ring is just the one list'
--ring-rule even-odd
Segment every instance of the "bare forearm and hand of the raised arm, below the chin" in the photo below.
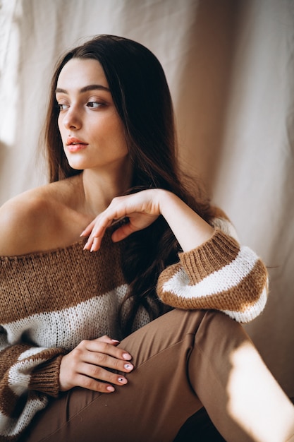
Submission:
{"label": "bare forearm and hand of the raised arm, below the chin", "polygon": [[88,225],[81,237],[89,237],[84,249],[97,251],[107,227],[116,220],[128,222],[113,234],[113,241],[121,241],[137,230],[145,229],[162,215],[173,231],[183,251],[200,246],[214,229],[185,204],[178,196],[164,189],[147,189],[114,198],[109,207]]}

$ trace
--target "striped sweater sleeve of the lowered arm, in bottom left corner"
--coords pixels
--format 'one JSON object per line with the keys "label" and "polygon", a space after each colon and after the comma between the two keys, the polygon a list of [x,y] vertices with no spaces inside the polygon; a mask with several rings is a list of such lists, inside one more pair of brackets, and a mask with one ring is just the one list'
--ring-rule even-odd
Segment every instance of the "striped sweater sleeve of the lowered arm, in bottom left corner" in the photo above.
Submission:
{"label": "striped sweater sleeve of the lowered arm, in bottom left corner", "polygon": [[63,349],[10,345],[0,327],[0,441],[14,440],[48,401],[59,394]]}

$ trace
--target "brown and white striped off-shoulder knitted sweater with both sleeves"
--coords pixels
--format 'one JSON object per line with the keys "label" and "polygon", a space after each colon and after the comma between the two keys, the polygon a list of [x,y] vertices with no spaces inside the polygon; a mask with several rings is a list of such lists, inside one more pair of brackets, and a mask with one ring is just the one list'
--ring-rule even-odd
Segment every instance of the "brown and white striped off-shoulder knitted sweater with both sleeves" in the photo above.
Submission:
{"label": "brown and white striped off-shoulder knitted sweater with both sleeves", "polygon": [[[229,223],[159,276],[159,299],[180,309],[218,309],[236,321],[259,315],[267,300],[267,270],[241,247]],[[125,239],[128,241],[128,239]],[[96,253],[84,241],[63,249],[1,257],[0,441],[17,440],[48,396],[59,395],[63,354],[102,335],[120,339],[117,313],[128,291],[121,243],[109,233]],[[134,330],[149,322],[144,309]]]}

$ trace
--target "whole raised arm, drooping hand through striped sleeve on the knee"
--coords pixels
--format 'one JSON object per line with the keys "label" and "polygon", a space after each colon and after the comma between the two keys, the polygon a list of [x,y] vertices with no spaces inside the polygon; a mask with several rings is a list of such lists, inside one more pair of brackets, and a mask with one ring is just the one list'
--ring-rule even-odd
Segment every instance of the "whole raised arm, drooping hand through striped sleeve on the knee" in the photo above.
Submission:
{"label": "whole raised arm, drooping hand through striped sleeve on the knee", "polygon": [[[99,249],[106,227],[128,217],[113,234],[119,241],[164,216],[183,253],[180,262],[161,273],[157,292],[161,301],[180,309],[217,309],[236,321],[249,322],[264,309],[268,275],[254,251],[240,246],[226,233],[226,220],[212,227],[177,196],[150,189],[115,198],[82,234],[89,234],[85,249]],[[212,222],[214,224],[214,222]],[[228,223],[227,223],[228,224]]]}

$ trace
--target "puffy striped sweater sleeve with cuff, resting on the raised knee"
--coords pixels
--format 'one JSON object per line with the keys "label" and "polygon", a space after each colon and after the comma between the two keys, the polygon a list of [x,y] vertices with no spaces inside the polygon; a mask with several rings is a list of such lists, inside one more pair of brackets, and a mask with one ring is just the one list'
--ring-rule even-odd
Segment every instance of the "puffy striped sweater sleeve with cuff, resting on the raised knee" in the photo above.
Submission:
{"label": "puffy striped sweater sleeve with cuff, resting on the raised knee", "polygon": [[159,276],[157,293],[175,308],[216,309],[247,323],[267,302],[267,269],[254,251],[223,230],[216,227],[197,249],[179,253],[180,261]]}

